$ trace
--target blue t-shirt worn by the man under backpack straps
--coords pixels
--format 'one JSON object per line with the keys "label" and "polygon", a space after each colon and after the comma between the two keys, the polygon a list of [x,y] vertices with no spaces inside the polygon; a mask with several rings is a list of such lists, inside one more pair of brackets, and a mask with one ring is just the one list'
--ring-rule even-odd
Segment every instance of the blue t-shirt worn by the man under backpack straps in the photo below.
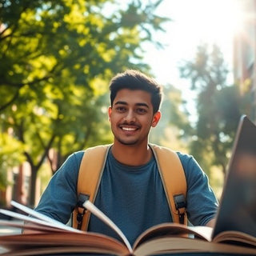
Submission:
{"label": "blue t-shirt worn by the man under backpack straps", "polygon": [[[37,211],[68,222],[77,203],[76,186],[83,152],[71,154],[50,179]],[[188,218],[193,225],[205,225],[216,214],[217,199],[194,158],[181,153],[178,156],[186,174]],[[130,244],[150,226],[172,222],[154,157],[143,166],[126,166],[118,162],[110,150],[94,204],[122,230]],[[93,214],[88,230],[118,238]]]}

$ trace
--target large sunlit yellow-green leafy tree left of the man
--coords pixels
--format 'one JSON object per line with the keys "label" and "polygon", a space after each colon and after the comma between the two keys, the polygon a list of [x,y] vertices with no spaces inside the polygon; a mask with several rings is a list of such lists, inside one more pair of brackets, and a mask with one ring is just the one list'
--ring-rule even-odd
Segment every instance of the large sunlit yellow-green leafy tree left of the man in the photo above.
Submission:
{"label": "large sunlit yellow-green leafy tree left of the man", "polygon": [[70,152],[110,141],[107,81],[127,67],[149,70],[141,43],[168,20],[154,15],[160,2],[134,1],[124,10],[106,0],[0,2],[0,118],[25,147],[30,205],[46,159],[54,171]]}

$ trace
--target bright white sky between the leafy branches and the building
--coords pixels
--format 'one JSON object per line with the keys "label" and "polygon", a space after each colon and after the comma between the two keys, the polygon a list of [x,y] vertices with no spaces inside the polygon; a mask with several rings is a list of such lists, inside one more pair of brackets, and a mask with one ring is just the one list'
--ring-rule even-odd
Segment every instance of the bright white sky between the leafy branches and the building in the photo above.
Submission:
{"label": "bright white sky between the leafy branches and the building", "polygon": [[178,64],[191,60],[202,42],[218,43],[232,69],[232,37],[239,28],[241,11],[236,0],[163,0],[157,14],[171,18],[166,33],[154,34],[164,50],[146,46],[145,60],[162,84],[188,87],[179,78]]}

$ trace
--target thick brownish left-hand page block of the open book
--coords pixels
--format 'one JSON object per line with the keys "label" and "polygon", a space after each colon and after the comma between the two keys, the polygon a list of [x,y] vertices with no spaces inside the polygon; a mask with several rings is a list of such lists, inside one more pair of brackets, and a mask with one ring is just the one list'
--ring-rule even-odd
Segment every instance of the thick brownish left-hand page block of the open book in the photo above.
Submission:
{"label": "thick brownish left-hand page block of the open book", "polygon": [[83,248],[84,253],[94,251],[95,253],[108,252],[109,254],[116,255],[129,254],[129,250],[126,246],[114,238],[93,232],[78,234],[65,230],[62,230],[62,232],[39,233],[36,235],[3,235],[0,236],[0,246],[9,250],[7,255],[12,254],[15,250],[19,253],[18,255],[24,255],[22,254],[22,250],[32,250],[34,252],[32,255],[39,255],[40,251],[47,248],[51,248],[50,253],[52,255],[54,248],[57,250],[58,248],[62,248],[62,251],[65,252],[66,247],[70,247],[70,250],[72,250],[71,247],[73,247],[74,251],[80,247]]}

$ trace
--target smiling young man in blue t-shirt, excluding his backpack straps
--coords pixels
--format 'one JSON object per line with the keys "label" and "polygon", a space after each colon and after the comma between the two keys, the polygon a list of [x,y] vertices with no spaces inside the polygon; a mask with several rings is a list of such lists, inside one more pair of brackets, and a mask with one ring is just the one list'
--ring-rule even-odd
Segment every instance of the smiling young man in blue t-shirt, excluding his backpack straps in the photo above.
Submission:
{"label": "smiling young man in blue t-shirt, excluding his backpack straps", "polygon": [[[114,143],[107,156],[98,194],[98,206],[133,244],[142,231],[172,222],[162,180],[148,137],[161,118],[161,86],[135,70],[117,74],[110,82],[109,120]],[[51,178],[36,208],[60,222],[68,222],[77,203],[78,170],[83,151],[71,154]],[[194,225],[213,226],[218,202],[208,178],[194,158],[178,153],[186,174],[186,210]],[[90,182],[90,180],[88,181]],[[89,231],[118,238],[91,215]]]}

